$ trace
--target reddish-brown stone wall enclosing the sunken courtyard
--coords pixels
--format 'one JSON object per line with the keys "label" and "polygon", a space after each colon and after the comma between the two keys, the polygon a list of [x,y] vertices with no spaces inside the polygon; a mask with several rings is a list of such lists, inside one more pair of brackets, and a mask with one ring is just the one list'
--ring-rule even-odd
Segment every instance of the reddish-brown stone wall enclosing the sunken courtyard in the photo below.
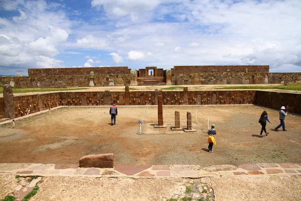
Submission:
{"label": "reddish-brown stone wall enclosing the sunken courtyard", "polygon": [[[285,106],[290,113],[301,114],[301,94],[260,90],[210,91],[98,91],[54,92],[14,97],[16,117],[49,110],[58,106],[117,106],[157,105],[158,95],[164,105],[235,105],[257,104],[279,109]],[[4,114],[4,100],[0,98],[0,115]]]}

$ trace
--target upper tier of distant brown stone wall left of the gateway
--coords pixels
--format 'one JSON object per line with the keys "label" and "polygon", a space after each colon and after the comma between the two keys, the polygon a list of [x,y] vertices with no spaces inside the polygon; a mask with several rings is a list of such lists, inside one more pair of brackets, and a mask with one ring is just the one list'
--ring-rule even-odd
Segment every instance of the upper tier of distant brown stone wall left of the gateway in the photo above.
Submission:
{"label": "upper tier of distant brown stone wall left of the gateway", "polygon": [[94,74],[129,74],[127,66],[121,67],[89,67],[89,68],[30,68],[28,76],[49,76],[49,75],[89,75]]}

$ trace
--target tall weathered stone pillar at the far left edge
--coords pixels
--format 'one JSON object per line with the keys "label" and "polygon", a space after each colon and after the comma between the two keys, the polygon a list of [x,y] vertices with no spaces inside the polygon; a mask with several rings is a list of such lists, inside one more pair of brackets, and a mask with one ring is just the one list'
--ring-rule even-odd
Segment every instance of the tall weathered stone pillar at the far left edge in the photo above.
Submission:
{"label": "tall weathered stone pillar at the far left edge", "polygon": [[4,117],[14,119],[15,114],[15,102],[13,89],[10,84],[5,84],[3,88],[3,99],[4,99]]}

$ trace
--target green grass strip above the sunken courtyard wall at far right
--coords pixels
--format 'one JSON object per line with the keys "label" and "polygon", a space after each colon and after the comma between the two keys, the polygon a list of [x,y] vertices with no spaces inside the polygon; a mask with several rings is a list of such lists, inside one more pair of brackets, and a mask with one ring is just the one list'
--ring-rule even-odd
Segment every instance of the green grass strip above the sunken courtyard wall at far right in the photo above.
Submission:
{"label": "green grass strip above the sunken courtyard wall at far right", "polygon": [[281,84],[281,85],[275,85],[275,86],[257,86],[257,85],[251,85],[251,86],[221,86],[216,87],[217,89],[284,89],[284,90],[297,90],[301,91],[301,83],[296,82],[292,84]]}

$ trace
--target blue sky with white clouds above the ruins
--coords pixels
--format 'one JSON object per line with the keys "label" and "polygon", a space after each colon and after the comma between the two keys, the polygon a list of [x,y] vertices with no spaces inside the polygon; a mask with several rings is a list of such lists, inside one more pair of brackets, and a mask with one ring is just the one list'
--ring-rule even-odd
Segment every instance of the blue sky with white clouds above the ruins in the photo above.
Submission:
{"label": "blue sky with white clouds above the ruins", "polygon": [[0,0],[0,74],[269,65],[301,72],[300,0]]}

